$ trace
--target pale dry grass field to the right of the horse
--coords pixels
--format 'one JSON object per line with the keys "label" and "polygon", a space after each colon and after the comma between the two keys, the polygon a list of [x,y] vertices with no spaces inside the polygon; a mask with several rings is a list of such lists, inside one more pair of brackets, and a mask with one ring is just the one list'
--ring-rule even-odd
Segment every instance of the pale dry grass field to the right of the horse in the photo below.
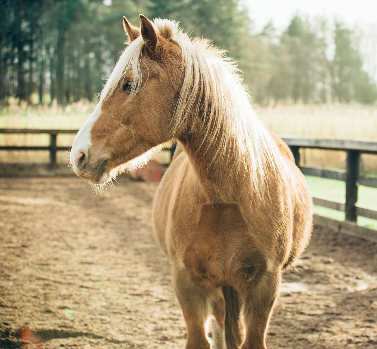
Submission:
{"label": "pale dry grass field to the right of the horse", "polygon": [[[282,105],[256,108],[269,130],[279,135],[377,142],[377,107],[365,105]],[[302,150],[303,164],[345,168],[342,151]],[[362,155],[362,171],[377,173],[377,156]]]}

